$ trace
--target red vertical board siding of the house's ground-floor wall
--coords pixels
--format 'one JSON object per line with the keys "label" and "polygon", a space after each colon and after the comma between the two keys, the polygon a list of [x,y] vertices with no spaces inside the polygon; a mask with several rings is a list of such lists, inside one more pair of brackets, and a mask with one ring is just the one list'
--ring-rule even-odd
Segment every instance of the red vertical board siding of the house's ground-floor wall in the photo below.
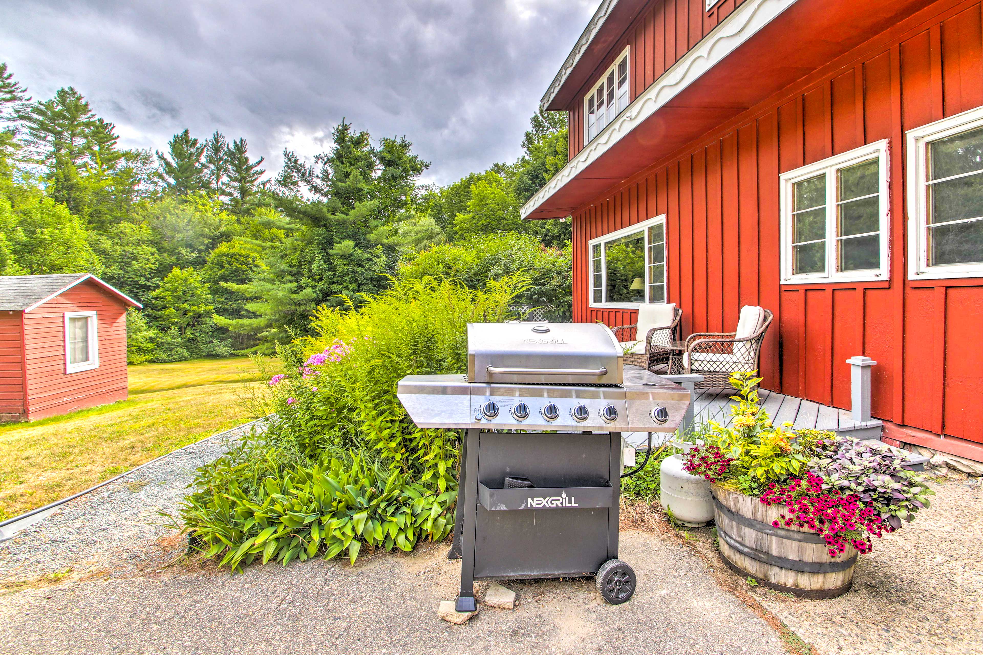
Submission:
{"label": "red vertical board siding of the house's ground-floor wall", "polygon": [[[588,242],[665,214],[668,300],[683,310],[683,335],[733,330],[742,305],[760,304],[775,313],[766,388],[847,409],[844,360],[867,355],[878,361],[875,416],[983,443],[983,278],[907,279],[904,133],[983,105],[980,3],[939,5],[578,210],[574,320],[635,321],[589,306]],[[890,280],[781,285],[780,174],[880,139],[891,148]]]}

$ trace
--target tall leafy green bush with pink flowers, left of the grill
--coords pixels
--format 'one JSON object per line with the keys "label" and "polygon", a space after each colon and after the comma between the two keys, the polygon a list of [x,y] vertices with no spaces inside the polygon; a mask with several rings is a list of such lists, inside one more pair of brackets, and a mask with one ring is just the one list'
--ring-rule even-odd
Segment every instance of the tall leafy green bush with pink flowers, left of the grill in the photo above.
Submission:
{"label": "tall leafy green bush with pink flowers, left of the grill", "polygon": [[342,553],[354,563],[445,538],[457,434],[418,428],[397,383],[464,372],[467,323],[509,318],[523,285],[397,281],[358,308],[318,308],[315,336],[279,349],[285,372],[262,385],[275,412],[266,432],[198,469],[180,511],[194,547],[241,570]]}

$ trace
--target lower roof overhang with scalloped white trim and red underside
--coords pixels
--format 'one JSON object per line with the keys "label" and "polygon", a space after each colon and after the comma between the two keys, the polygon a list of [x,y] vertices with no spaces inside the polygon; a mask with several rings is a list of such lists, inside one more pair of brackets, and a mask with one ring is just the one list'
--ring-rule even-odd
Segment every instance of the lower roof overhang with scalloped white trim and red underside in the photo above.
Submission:
{"label": "lower roof overhang with scalloped white trim and red underside", "polygon": [[575,213],[924,7],[924,0],[746,0],[574,155],[522,217]]}

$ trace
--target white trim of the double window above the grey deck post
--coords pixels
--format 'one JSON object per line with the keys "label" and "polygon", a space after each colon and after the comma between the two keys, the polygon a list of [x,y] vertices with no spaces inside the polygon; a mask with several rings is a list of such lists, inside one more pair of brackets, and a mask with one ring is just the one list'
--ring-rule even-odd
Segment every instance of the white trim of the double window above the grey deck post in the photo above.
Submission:
{"label": "white trim of the double window above the grey deck post", "polygon": [[[862,161],[877,157],[880,164],[880,194],[881,194],[881,267],[864,271],[837,271],[837,242],[836,215],[830,216],[830,207],[837,204],[837,175],[835,171]],[[828,159],[817,161],[793,171],[782,173],[781,180],[781,284],[834,284],[837,282],[876,282],[889,280],[891,277],[891,194],[890,185],[890,148],[888,139],[869,143],[848,152],[843,152]],[[826,173],[826,271],[823,273],[792,273],[792,203],[794,197],[792,186],[796,182],[807,180]]]}

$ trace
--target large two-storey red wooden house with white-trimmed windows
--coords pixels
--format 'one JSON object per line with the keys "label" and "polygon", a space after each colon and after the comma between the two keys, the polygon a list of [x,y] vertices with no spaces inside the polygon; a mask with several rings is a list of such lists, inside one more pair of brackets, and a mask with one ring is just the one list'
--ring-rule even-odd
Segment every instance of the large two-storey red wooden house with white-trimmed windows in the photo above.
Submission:
{"label": "large two-storey red wooden house with white-trimmed windows", "polygon": [[[522,210],[572,217],[574,320],[764,306],[765,388],[845,409],[867,355],[885,437],[983,460],[981,26],[980,0],[604,0],[542,102],[570,160]],[[627,300],[614,239],[644,239]]]}

